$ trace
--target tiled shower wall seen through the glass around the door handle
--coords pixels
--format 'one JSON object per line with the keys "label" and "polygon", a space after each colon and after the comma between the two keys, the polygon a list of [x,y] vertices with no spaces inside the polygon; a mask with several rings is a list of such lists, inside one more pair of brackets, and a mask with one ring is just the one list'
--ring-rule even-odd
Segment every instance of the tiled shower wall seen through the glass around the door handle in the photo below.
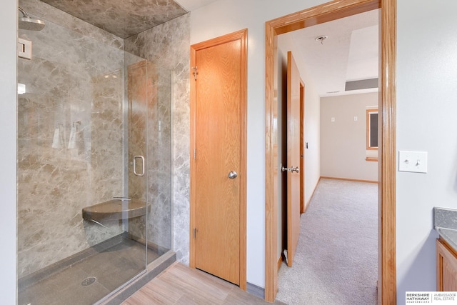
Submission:
{"label": "tiled shower wall seen through the glass around the door handle", "polygon": [[[151,204],[148,241],[171,249],[171,74],[146,60],[130,65],[128,74],[129,160],[146,157],[145,176],[128,171],[129,196]],[[144,217],[131,219],[129,233],[145,239],[144,224]]]}

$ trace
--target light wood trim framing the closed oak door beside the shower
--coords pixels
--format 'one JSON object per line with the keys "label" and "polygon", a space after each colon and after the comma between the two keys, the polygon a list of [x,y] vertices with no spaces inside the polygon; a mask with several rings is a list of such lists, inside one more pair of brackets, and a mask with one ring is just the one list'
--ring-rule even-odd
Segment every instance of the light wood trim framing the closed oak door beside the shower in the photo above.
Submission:
{"label": "light wood trim framing the closed oak door beside the shower", "polygon": [[[236,31],[231,34],[217,37],[209,41],[203,41],[191,46],[191,67],[196,66],[196,52],[211,46],[217,46],[230,41],[241,41],[241,104],[240,104],[240,260],[239,275],[240,288],[246,290],[246,112],[247,112],[247,29]],[[198,67],[197,67],[198,68]],[[198,72],[198,69],[197,69]],[[194,148],[196,147],[196,84],[194,82],[194,70],[191,69],[191,217],[190,217],[190,261],[191,268],[195,268],[196,251],[194,240],[194,228],[196,225],[196,162]],[[198,74],[197,74],[198,77]],[[237,178],[237,179],[238,179]]]}

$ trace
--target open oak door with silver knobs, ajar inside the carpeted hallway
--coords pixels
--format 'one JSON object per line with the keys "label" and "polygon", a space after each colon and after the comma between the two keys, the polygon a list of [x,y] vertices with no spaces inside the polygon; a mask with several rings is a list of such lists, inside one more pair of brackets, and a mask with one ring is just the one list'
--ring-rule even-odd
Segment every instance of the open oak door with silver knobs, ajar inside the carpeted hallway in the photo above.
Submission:
{"label": "open oak door with silver knobs, ajar inside the carpeted hallway", "polygon": [[287,53],[287,264],[292,266],[300,234],[300,74]]}

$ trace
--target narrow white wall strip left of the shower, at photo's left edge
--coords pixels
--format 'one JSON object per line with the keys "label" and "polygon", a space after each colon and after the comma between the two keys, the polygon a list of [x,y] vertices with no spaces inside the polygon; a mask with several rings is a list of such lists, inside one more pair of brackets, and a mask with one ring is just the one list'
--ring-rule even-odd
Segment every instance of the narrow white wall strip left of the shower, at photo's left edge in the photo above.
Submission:
{"label": "narrow white wall strip left of the shower, at photo's left edge", "polygon": [[0,10],[0,294],[16,304],[16,51],[17,3],[3,1]]}

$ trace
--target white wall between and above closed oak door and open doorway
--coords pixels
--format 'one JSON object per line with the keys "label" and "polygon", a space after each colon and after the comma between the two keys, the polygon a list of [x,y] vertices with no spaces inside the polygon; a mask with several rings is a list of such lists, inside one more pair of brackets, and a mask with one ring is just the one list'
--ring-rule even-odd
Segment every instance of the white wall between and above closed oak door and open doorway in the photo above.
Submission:
{"label": "white wall between and above closed oak door and open doorway", "polygon": [[220,0],[191,13],[191,44],[248,29],[247,280],[261,287],[265,284],[265,22],[323,2]]}

